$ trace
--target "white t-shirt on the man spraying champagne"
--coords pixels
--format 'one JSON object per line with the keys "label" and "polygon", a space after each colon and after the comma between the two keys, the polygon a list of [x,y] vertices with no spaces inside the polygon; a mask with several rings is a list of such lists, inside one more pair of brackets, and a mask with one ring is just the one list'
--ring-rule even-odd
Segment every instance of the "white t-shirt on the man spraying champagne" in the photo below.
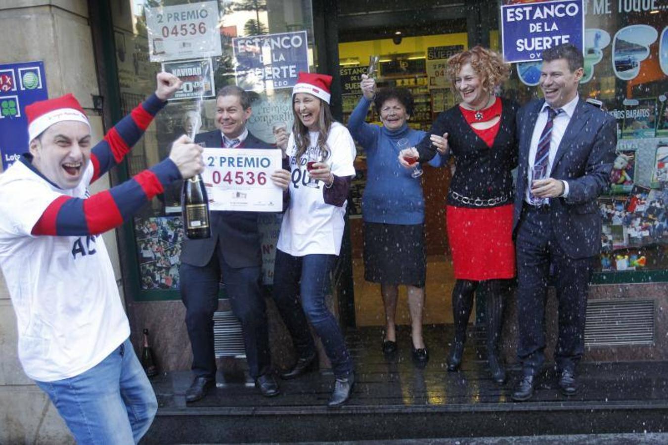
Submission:
{"label": "white t-shirt on the man spraying champagne", "polygon": [[61,190],[15,162],[0,174],[0,267],[19,331],[19,359],[33,380],[77,376],[130,336],[102,236],[47,237],[31,231],[59,196],[88,196],[93,166]]}

